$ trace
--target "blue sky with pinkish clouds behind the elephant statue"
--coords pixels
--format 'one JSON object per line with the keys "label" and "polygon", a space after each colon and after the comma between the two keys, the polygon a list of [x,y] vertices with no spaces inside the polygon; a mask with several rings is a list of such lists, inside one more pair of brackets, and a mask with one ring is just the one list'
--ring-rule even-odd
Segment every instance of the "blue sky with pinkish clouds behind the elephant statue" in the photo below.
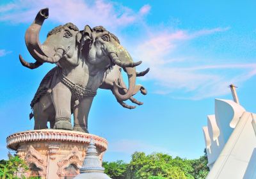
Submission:
{"label": "blue sky with pinkish clouds behind the elephant statue", "polygon": [[[231,99],[236,84],[241,105],[255,113],[255,1],[1,1],[0,159],[6,137],[33,128],[30,102],[54,65],[36,70],[20,65],[19,54],[34,61],[24,42],[26,28],[41,8],[53,27],[73,22],[79,29],[102,25],[120,39],[138,67],[150,67],[143,84],[148,95],[136,109],[121,107],[111,91],[99,89],[89,116],[90,133],[105,137],[104,160],[129,161],[134,151],[164,152],[188,159],[204,152],[202,126],[214,114],[214,98]],[[125,76],[124,76],[125,77]]]}

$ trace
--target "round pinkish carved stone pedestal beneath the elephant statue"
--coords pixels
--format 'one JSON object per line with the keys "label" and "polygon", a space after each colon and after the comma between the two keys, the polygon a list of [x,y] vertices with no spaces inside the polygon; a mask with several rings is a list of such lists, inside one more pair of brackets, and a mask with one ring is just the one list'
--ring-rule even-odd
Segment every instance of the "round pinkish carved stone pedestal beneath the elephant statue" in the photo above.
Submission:
{"label": "round pinkish carved stone pedestal beneath the elephant statue", "polygon": [[93,139],[100,160],[108,148],[106,139],[69,130],[28,130],[8,136],[7,147],[26,160],[26,176],[73,178],[83,164],[87,146]]}

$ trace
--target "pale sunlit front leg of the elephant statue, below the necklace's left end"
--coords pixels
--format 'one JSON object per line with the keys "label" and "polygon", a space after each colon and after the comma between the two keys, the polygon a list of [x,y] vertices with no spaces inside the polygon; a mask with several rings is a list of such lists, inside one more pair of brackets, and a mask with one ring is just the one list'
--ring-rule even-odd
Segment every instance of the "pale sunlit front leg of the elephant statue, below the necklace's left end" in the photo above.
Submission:
{"label": "pale sunlit front leg of the elephant statue, below the necklace's left end", "polygon": [[53,128],[72,130],[70,102],[72,93],[62,82],[52,88],[52,102],[55,108],[55,124]]}

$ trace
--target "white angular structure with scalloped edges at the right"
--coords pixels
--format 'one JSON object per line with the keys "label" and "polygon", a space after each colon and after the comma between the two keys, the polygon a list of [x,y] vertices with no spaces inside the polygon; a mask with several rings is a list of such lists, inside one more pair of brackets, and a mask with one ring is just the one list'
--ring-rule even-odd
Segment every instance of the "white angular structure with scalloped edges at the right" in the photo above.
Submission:
{"label": "white angular structure with scalloped edges at the right", "polygon": [[203,127],[208,179],[256,178],[256,114],[239,104],[234,85],[233,100],[215,100],[215,114]]}

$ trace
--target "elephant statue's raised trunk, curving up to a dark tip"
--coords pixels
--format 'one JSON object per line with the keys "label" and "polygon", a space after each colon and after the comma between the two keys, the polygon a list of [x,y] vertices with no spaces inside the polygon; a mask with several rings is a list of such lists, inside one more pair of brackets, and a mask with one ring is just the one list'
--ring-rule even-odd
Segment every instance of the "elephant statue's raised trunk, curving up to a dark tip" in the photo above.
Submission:
{"label": "elephant statue's raised trunk, curving up to a dark tip", "polygon": [[38,56],[35,54],[35,51],[47,56],[45,52],[42,49],[42,45],[39,41],[39,32],[42,27],[42,24],[44,23],[44,20],[48,18],[49,10],[48,8],[40,10],[33,23],[28,27],[25,35],[25,41],[28,48],[29,53],[33,58],[36,59],[36,61],[39,61],[40,63],[44,63],[42,59],[38,58]]}

